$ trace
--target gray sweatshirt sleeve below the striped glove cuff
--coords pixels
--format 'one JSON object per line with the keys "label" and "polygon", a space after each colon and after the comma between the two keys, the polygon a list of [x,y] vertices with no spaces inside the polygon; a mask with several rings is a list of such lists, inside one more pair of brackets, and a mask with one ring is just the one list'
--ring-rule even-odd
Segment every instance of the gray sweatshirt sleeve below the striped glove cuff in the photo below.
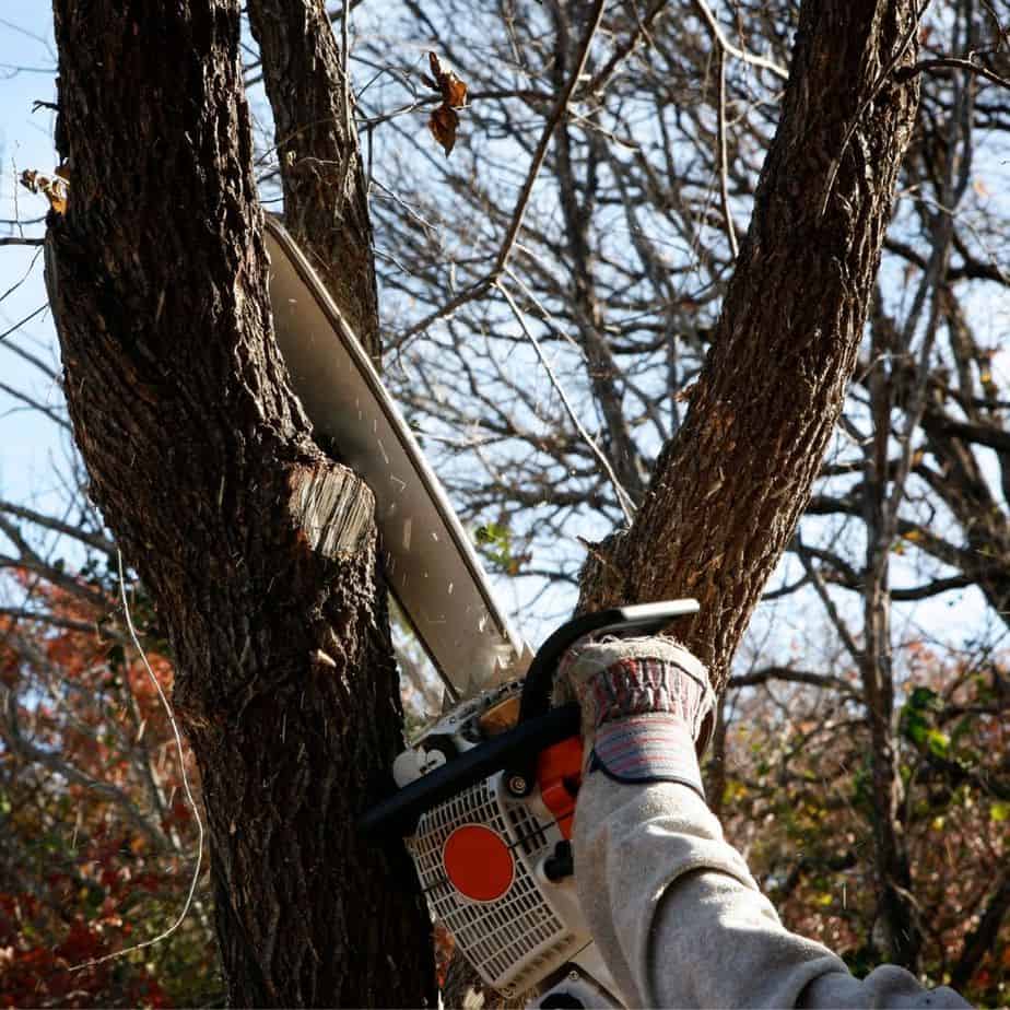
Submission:
{"label": "gray sweatshirt sleeve below the striped glove cuff", "polygon": [[629,1006],[968,1006],[891,965],[860,982],[825,947],[785,929],[685,786],[588,775],[573,849],[579,903]]}

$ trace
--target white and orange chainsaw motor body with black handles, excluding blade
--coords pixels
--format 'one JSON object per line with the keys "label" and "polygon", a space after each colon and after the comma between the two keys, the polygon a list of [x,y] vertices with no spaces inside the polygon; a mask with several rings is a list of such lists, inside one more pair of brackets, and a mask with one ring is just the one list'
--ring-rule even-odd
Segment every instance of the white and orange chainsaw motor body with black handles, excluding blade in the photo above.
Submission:
{"label": "white and orange chainsaw motor body with black handles, excluding blade", "polygon": [[622,1006],[575,890],[579,713],[550,707],[553,678],[587,635],[647,634],[696,610],[674,600],[569,621],[525,681],[462,703],[400,754],[399,788],[362,820],[374,835],[403,837],[433,919],[506,997],[539,989],[530,1006]]}

